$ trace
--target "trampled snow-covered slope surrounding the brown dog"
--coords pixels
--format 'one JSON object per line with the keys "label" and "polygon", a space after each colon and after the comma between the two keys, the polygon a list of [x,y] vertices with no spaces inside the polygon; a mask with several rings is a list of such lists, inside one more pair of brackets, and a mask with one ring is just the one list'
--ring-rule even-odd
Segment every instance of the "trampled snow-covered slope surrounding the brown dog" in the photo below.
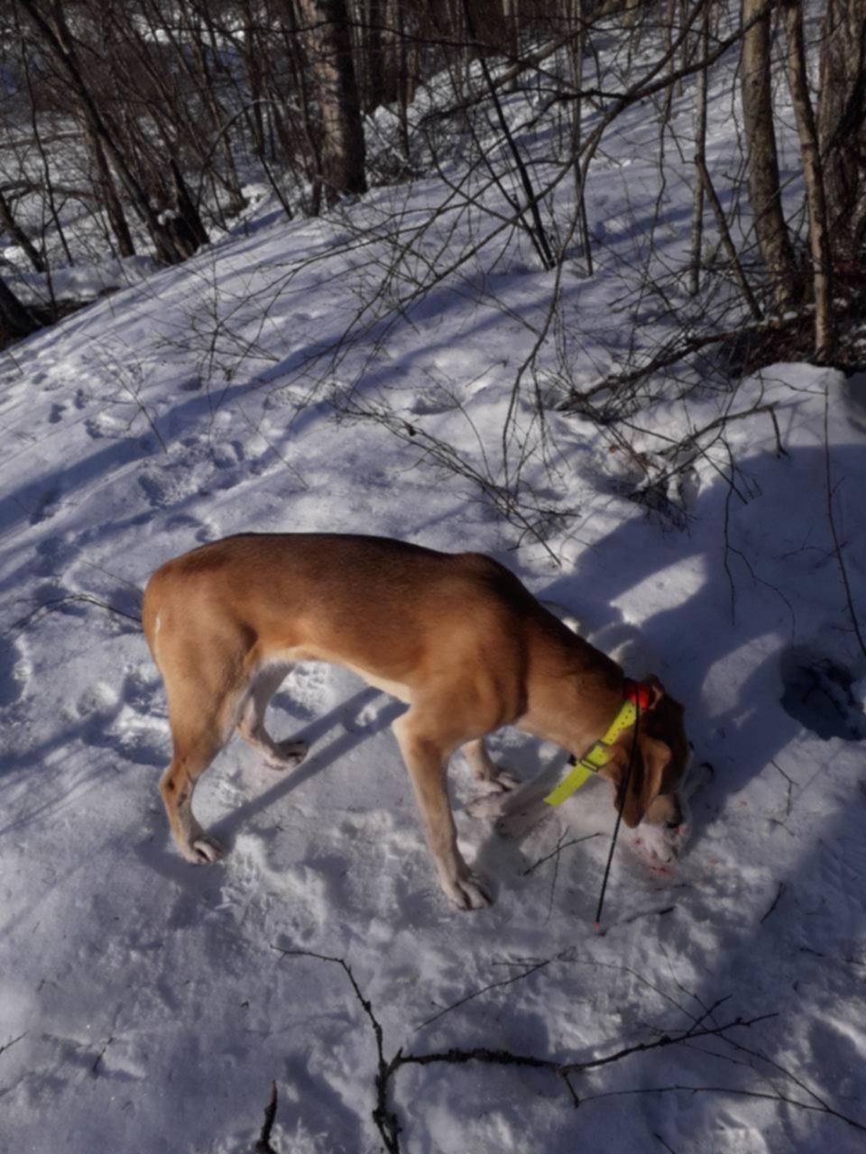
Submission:
{"label": "trampled snow-covered slope surrounding the brown dog", "polygon": [[[715,106],[717,164],[725,120]],[[655,203],[641,133],[635,108],[593,173],[596,277],[563,280],[587,380],[625,324],[620,241]],[[542,545],[411,436],[336,421],[334,404],[350,388],[387,400],[495,473],[553,273],[513,253],[348,350],[324,385],[305,368],[372,277],[378,249],[342,250],[351,228],[398,197],[403,219],[423,218],[441,195],[430,180],[290,224],[262,201],[236,237],[0,365],[3,1149],[249,1151],[271,1081],[282,1154],[379,1149],[371,1016],[386,1063],[450,1054],[394,1069],[404,1151],[863,1148],[866,661],[839,552],[863,613],[866,380],[777,365],[733,402],[657,406],[657,427],[681,432],[772,404],[784,448],[767,411],[731,424],[738,469],[722,449],[699,462],[681,529],[624,500],[595,426],[551,412],[555,472],[530,462],[527,475],[569,516]],[[685,179],[666,194],[670,253],[685,250],[689,196]],[[401,706],[312,665],[273,721],[311,756],[279,774],[233,742],[196,795],[231,853],[181,861],[156,789],[169,735],[140,592],[167,557],[251,529],[493,553],[629,672],[658,673],[712,769],[675,870],[647,868],[640,830],[624,839],[597,931],[605,786],[505,840],[463,811],[455,764],[461,842],[497,894],[456,913],[389,730]],[[515,733],[492,744],[523,778],[565,760]],[[461,1049],[490,1061],[455,1064]],[[501,1051],[588,1069],[569,1093]]]}

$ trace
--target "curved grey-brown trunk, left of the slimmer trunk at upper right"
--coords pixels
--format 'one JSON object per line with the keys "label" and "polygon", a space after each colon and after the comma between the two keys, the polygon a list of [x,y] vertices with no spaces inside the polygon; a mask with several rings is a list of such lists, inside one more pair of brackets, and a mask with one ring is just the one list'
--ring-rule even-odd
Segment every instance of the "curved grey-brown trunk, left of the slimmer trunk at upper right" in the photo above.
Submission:
{"label": "curved grey-brown trunk, left of the slimmer trunk at upper right", "polygon": [[764,7],[766,0],[742,0],[744,24],[754,21],[742,36],[742,119],[748,149],[748,193],[757,243],[776,307],[787,309],[796,304],[799,293],[797,264],[782,212],[770,90],[770,13],[764,12],[760,16]]}

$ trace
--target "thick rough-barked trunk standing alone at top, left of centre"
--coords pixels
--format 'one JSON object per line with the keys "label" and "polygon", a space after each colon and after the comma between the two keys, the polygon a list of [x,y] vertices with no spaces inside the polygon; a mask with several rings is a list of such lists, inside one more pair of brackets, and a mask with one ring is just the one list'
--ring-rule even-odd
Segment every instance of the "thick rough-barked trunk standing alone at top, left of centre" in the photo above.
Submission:
{"label": "thick rough-barked trunk standing alone at top, left of centre", "polygon": [[326,200],[364,193],[364,120],[354,78],[346,0],[299,0],[314,45],[313,68],[322,122]]}

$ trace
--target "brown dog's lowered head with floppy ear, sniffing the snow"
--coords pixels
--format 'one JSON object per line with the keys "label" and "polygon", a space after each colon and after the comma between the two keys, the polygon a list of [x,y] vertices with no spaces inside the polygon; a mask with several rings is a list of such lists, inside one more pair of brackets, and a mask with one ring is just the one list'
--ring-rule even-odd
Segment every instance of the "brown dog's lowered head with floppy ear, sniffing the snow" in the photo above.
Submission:
{"label": "brown dog's lowered head with floppy ear, sniffing the snow", "polygon": [[617,808],[622,810],[626,825],[634,829],[645,819],[650,825],[673,830],[685,820],[679,796],[679,785],[690,759],[682,725],[685,711],[679,702],[667,696],[657,677],[648,677],[641,684],[649,691],[649,702],[640,711],[634,757],[633,727],[613,743],[602,773],[617,787]]}

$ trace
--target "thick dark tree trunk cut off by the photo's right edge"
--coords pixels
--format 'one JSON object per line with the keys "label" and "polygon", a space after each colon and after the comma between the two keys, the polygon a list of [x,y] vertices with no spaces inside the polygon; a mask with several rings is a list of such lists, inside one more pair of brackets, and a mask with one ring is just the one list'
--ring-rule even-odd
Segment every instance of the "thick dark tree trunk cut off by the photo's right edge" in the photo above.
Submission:
{"label": "thick dark tree trunk cut off by the photo's right edge", "polygon": [[866,243],[866,0],[827,0],[818,135],[834,257]]}

